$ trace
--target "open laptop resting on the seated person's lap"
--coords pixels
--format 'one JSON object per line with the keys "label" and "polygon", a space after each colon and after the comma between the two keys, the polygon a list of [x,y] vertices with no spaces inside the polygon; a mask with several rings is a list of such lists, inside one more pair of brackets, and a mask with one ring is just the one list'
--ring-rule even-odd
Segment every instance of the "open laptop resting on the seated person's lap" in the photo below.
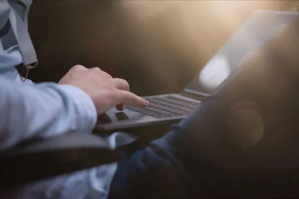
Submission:
{"label": "open laptop resting on the seated person's lap", "polygon": [[111,108],[98,117],[95,129],[117,131],[185,118],[234,69],[298,16],[295,11],[255,11],[204,67],[199,66],[200,72],[181,93],[144,97],[149,100],[149,106],[144,108],[127,106],[124,111]]}

